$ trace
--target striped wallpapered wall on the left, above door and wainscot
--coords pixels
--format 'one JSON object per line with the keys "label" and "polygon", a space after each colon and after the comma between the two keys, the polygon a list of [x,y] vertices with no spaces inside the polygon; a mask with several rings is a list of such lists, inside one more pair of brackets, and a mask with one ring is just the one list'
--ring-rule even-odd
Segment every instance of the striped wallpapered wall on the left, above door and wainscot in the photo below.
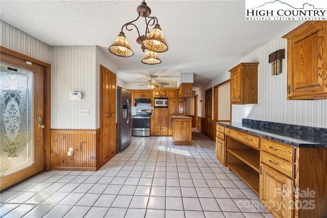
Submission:
{"label": "striped wallpapered wall on the left, above door and wainscot", "polygon": [[[100,64],[116,74],[116,63],[97,46],[49,46],[0,21],[1,46],[51,64],[51,128],[99,128]],[[73,91],[82,99],[69,100]],[[79,108],[89,116],[79,116]]]}

